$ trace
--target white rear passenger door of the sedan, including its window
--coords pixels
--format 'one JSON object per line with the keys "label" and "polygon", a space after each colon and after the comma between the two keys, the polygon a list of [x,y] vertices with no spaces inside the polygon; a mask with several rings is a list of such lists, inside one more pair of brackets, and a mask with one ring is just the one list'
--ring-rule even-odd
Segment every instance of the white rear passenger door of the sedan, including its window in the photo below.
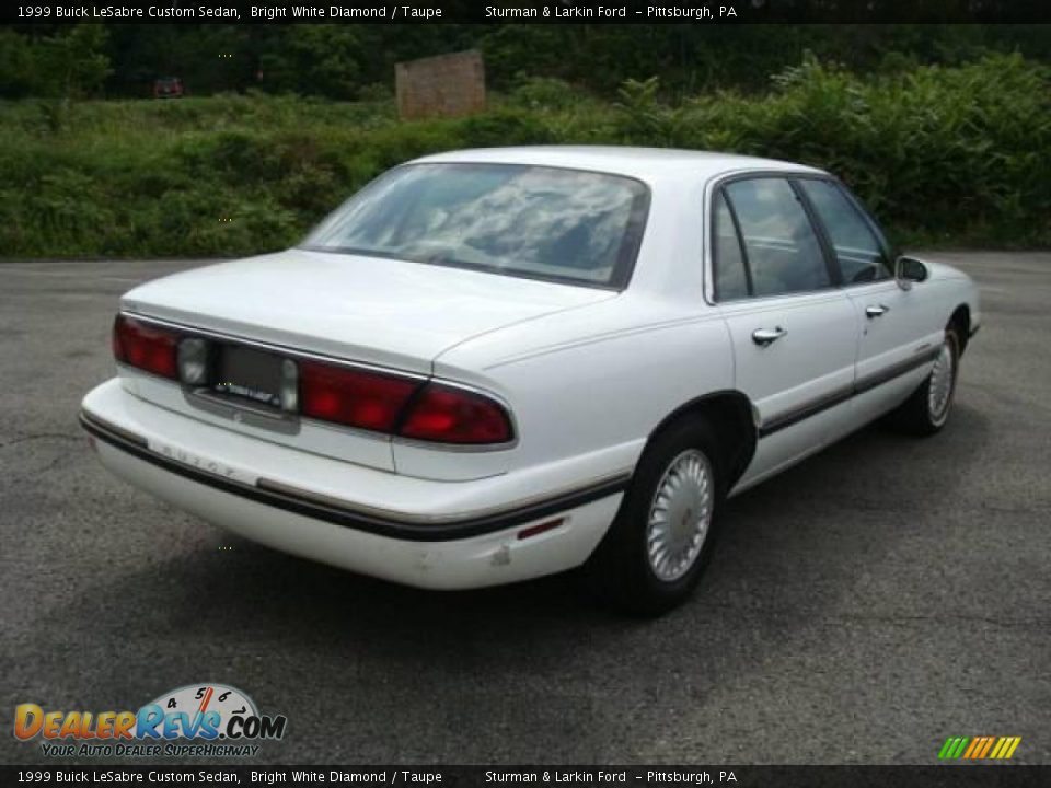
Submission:
{"label": "white rear passenger door of the sedan, including its window", "polygon": [[724,181],[711,206],[711,297],[759,428],[743,489],[850,429],[857,323],[789,176]]}

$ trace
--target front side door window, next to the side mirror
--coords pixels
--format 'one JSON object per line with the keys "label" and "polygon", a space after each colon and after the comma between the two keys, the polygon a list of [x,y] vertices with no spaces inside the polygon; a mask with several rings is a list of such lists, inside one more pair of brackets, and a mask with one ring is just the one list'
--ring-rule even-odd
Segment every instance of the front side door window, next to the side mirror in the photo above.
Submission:
{"label": "front side door window, next to the side mirror", "polygon": [[843,190],[829,181],[801,179],[810,204],[824,225],[846,285],[890,278],[883,248]]}

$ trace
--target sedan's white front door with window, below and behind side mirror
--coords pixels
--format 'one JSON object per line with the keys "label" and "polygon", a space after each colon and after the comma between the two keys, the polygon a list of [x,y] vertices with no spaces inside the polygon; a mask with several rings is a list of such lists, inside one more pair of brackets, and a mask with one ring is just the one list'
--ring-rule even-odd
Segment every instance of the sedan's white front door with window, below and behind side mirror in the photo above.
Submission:
{"label": "sedan's white front door with window, below and behind side mirror", "polygon": [[829,178],[797,183],[833,252],[856,315],[854,413],[864,424],[915,390],[942,343],[943,327],[922,294],[898,285],[882,232],[846,187]]}

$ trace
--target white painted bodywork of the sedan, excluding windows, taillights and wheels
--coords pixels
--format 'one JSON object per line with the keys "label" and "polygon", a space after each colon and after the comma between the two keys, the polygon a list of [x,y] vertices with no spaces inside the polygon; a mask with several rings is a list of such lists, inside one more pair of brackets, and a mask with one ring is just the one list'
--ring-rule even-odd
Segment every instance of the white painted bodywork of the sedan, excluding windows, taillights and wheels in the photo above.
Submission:
{"label": "white painted bodywork of the sedan, excluding windows, taillights and wheels", "polygon": [[[931,362],[870,389],[858,382],[936,347],[954,310],[969,310],[972,329],[980,323],[973,283],[933,263],[929,278],[908,290],[890,279],[716,302],[706,228],[720,179],[824,177],[810,167],[630,148],[509,148],[419,161],[570,167],[644,182],[649,215],[628,286],[293,248],[149,282],[120,309],[264,348],[475,387],[506,404],[513,443],[449,448],[307,418],[298,433],[281,433],[203,410],[178,383],[120,366],[83,402],[102,463],[206,520],[308,558],[426,588],[511,582],[588,558],[650,436],[680,408],[716,393],[747,397],[751,433],[741,443],[754,442],[755,451],[735,480],[739,493],[903,402]],[[889,311],[866,316],[874,303]],[[774,327],[784,338],[752,341],[758,328]],[[787,426],[775,429],[778,421]],[[332,512],[351,524],[326,520]],[[369,526],[371,519],[381,526]],[[476,533],[434,535],[464,522]]]}

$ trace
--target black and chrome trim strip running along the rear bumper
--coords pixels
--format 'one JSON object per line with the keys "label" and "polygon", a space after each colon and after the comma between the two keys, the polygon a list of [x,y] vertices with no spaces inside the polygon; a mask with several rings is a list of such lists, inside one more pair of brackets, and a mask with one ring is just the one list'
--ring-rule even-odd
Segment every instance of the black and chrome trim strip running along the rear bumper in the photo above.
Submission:
{"label": "black and chrome trim strip running along the rear bumper", "polygon": [[249,485],[200,471],[151,451],[142,437],[119,428],[111,429],[113,425],[88,410],[81,410],[80,424],[99,440],[193,482],[302,517],[411,542],[467,538],[559,514],[623,493],[631,478],[631,474],[625,472],[597,479],[571,490],[533,500],[517,501],[500,509],[485,510],[444,521],[419,522],[413,515],[366,510],[350,501],[316,496],[274,482],[259,479],[255,485]]}

